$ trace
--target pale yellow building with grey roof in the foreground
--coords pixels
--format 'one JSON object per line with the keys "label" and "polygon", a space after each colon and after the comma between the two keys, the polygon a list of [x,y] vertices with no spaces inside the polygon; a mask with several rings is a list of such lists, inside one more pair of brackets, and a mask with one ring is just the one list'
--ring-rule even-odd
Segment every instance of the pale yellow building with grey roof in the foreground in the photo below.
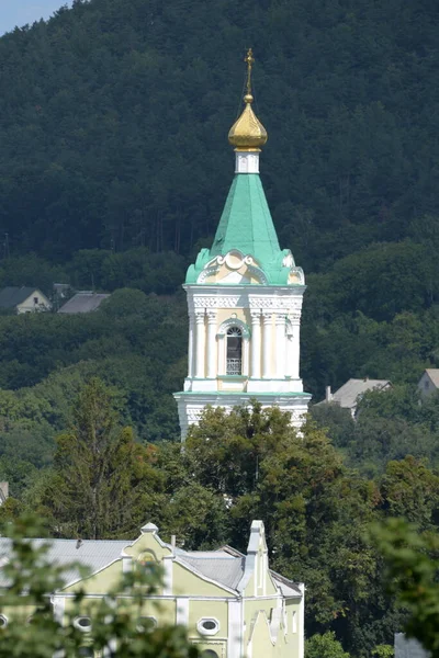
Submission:
{"label": "pale yellow building with grey roof in the foreground", "polygon": [[[43,542],[34,540],[36,546]],[[93,624],[90,601],[104,598],[121,581],[122,574],[157,565],[164,582],[145,597],[142,611],[151,624],[185,626],[190,642],[205,658],[303,658],[304,586],[269,568],[262,521],[251,523],[245,555],[229,546],[183,551],[175,544],[165,543],[153,523],[145,525],[140,536],[131,543],[52,540],[48,559],[68,567],[65,586],[47,592],[52,594],[54,615],[66,622],[75,594],[83,591],[81,601],[87,616],[85,613],[75,623],[87,636]],[[10,552],[11,540],[0,537],[3,564]],[[88,566],[91,575],[81,577],[72,563]],[[0,588],[5,583],[0,567]],[[5,623],[14,617],[8,604],[1,605],[1,613]]]}

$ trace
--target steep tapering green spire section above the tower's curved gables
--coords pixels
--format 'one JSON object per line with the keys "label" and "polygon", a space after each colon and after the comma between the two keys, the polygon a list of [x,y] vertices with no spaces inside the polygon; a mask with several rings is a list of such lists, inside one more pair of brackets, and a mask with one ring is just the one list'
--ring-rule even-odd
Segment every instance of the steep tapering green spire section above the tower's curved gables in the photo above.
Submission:
{"label": "steep tapering green spire section above the tower's curved gables", "polygon": [[237,173],[219,219],[211,257],[230,249],[273,262],[281,251],[262,182],[257,173]]}

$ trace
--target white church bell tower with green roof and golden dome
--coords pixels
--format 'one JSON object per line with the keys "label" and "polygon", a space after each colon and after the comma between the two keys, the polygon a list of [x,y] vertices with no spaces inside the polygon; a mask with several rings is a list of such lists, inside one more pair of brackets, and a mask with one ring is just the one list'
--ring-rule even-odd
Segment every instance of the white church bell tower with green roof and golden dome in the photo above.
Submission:
{"label": "white church bell tower with green roof and golden dome", "polygon": [[267,132],[251,104],[254,57],[247,53],[245,107],[228,133],[235,177],[211,249],[202,249],[183,285],[189,351],[177,400],[181,438],[206,405],[230,410],[256,398],[290,411],[300,428],[309,394],[300,377],[305,277],[281,249],[259,178]]}

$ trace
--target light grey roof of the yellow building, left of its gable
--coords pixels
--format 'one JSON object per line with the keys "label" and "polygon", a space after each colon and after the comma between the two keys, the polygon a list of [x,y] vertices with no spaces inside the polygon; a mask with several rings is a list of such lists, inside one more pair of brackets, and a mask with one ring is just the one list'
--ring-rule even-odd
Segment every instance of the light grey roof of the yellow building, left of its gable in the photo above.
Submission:
{"label": "light grey roof of the yellow building, left of its gable", "polygon": [[[82,567],[88,567],[91,574],[99,571],[110,563],[121,557],[123,548],[130,545],[124,541],[93,541],[83,540],[81,546],[77,548],[76,540],[33,540],[36,548],[47,544],[47,559],[50,564],[67,567],[64,574],[65,583],[75,582],[80,578],[79,571],[72,567],[72,563],[79,563]],[[11,552],[11,540],[0,537],[0,567],[4,565]],[[8,581],[0,568],[0,587],[7,587]]]}

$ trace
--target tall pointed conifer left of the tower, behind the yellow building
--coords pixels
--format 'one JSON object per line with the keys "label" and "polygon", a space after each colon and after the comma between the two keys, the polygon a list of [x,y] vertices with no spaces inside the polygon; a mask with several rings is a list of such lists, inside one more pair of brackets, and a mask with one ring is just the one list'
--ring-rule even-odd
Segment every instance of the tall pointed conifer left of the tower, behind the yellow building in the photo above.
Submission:
{"label": "tall pointed conifer left of the tower, behind the yellow building", "polygon": [[81,390],[74,426],[56,439],[54,473],[41,496],[42,510],[63,536],[126,536],[151,509],[160,488],[146,447],[117,424],[111,389],[94,378]]}

